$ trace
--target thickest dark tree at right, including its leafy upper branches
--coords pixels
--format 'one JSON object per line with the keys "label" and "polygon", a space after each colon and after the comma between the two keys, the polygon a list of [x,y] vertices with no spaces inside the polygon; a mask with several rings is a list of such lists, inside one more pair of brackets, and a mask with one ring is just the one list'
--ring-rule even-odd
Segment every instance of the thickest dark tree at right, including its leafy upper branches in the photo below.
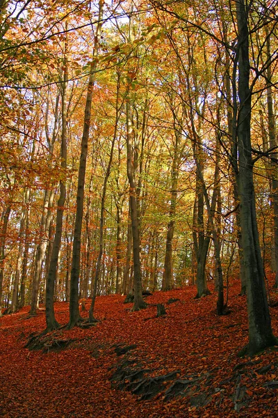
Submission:
{"label": "thickest dark tree at right, including its leafy upper branches", "polygon": [[[157,6],[158,4],[156,3]],[[255,1],[247,4],[245,0],[238,0],[236,1],[235,8],[234,4],[230,3],[227,10],[229,10],[231,20],[236,22],[235,29],[237,30],[236,43],[234,46],[231,46],[231,42],[227,44],[224,41],[222,34],[220,34],[222,38],[218,38],[218,34],[213,32],[213,26],[210,25],[211,17],[205,19],[203,21],[204,23],[200,25],[193,20],[194,14],[192,17],[188,14],[183,17],[179,6],[177,9],[172,10],[167,9],[167,6],[163,4],[159,4],[159,7],[163,12],[167,12],[178,18],[181,22],[184,22],[186,27],[195,27],[201,33],[206,33],[215,43],[226,48],[228,52],[230,52],[230,49],[234,51],[234,54],[230,54],[234,65],[232,77],[233,132],[231,150],[228,151],[228,156],[231,159],[231,165],[236,175],[240,200],[240,226],[249,320],[249,343],[247,350],[250,354],[254,354],[265,347],[277,343],[277,339],[273,336],[271,329],[259,243],[259,231],[256,223],[253,178],[254,161],[252,160],[250,124],[252,115],[252,89],[254,88],[254,82],[250,85],[250,37],[252,36],[252,31],[256,28],[256,24],[263,22],[261,20],[261,8]],[[213,10],[215,11],[215,20],[217,20],[219,12],[218,5],[214,5]],[[202,10],[200,13],[202,13]],[[255,15],[257,15],[257,22],[254,24],[253,29],[250,29]],[[213,17],[213,13],[211,16]],[[258,62],[256,59],[254,61]],[[257,77],[259,77],[261,72],[258,70],[257,74]],[[257,77],[255,77],[254,81],[256,81]],[[190,109],[193,111],[196,107],[190,104]],[[227,147],[224,146],[224,150],[227,152]]]}

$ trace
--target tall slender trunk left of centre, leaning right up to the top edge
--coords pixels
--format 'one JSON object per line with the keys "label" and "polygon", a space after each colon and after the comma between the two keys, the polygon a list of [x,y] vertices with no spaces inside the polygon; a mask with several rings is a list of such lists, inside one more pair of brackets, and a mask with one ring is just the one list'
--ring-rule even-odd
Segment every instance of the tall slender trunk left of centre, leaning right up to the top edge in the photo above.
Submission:
{"label": "tall slender trunk left of centre, leaning right up to the top edge", "polygon": [[92,63],[90,67],[90,77],[88,82],[88,91],[85,104],[83,136],[81,141],[81,155],[79,162],[79,178],[76,195],[76,217],[74,223],[74,242],[72,249],[72,273],[70,280],[70,321],[67,325],[68,328],[72,328],[75,325],[77,325],[79,319],[81,318],[79,314],[79,274],[81,253],[81,230],[84,206],[85,171],[88,154],[88,139],[90,133],[93,86],[95,81],[95,70],[97,68],[97,55],[99,50],[99,39],[101,36],[103,13],[104,0],[99,0],[99,17],[97,23],[97,31],[95,35],[95,44],[92,53]]}

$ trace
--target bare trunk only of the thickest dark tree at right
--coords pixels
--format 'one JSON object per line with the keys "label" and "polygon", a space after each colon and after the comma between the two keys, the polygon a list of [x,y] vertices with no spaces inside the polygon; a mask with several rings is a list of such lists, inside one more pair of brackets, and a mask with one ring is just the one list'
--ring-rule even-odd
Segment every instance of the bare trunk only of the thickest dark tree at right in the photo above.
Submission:
{"label": "bare trunk only of the thickest dark tree at right", "polygon": [[263,262],[256,223],[253,182],[252,146],[250,134],[251,91],[249,62],[248,10],[244,0],[236,3],[238,24],[238,189],[240,193],[240,220],[243,238],[243,257],[247,286],[249,321],[248,352],[258,353],[277,344],[272,334],[270,312],[265,291]]}

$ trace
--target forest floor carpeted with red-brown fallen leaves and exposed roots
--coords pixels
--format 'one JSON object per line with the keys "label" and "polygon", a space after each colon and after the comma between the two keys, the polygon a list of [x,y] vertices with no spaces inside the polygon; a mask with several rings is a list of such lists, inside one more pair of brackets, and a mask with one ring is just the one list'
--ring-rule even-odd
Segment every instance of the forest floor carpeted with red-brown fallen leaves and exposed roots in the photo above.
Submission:
{"label": "forest floor carpeted with red-brown fallen leaves and exposed roots", "polygon": [[[156,292],[139,312],[123,296],[97,297],[95,327],[58,330],[43,350],[24,347],[44,330],[43,309],[1,317],[0,417],[278,417],[278,348],[238,357],[248,333],[239,290],[229,288],[227,316],[217,316],[215,293],[194,300],[193,286]],[[156,318],[158,303],[166,315]],[[67,323],[69,304],[55,309]],[[270,311],[278,336],[278,307]]]}

